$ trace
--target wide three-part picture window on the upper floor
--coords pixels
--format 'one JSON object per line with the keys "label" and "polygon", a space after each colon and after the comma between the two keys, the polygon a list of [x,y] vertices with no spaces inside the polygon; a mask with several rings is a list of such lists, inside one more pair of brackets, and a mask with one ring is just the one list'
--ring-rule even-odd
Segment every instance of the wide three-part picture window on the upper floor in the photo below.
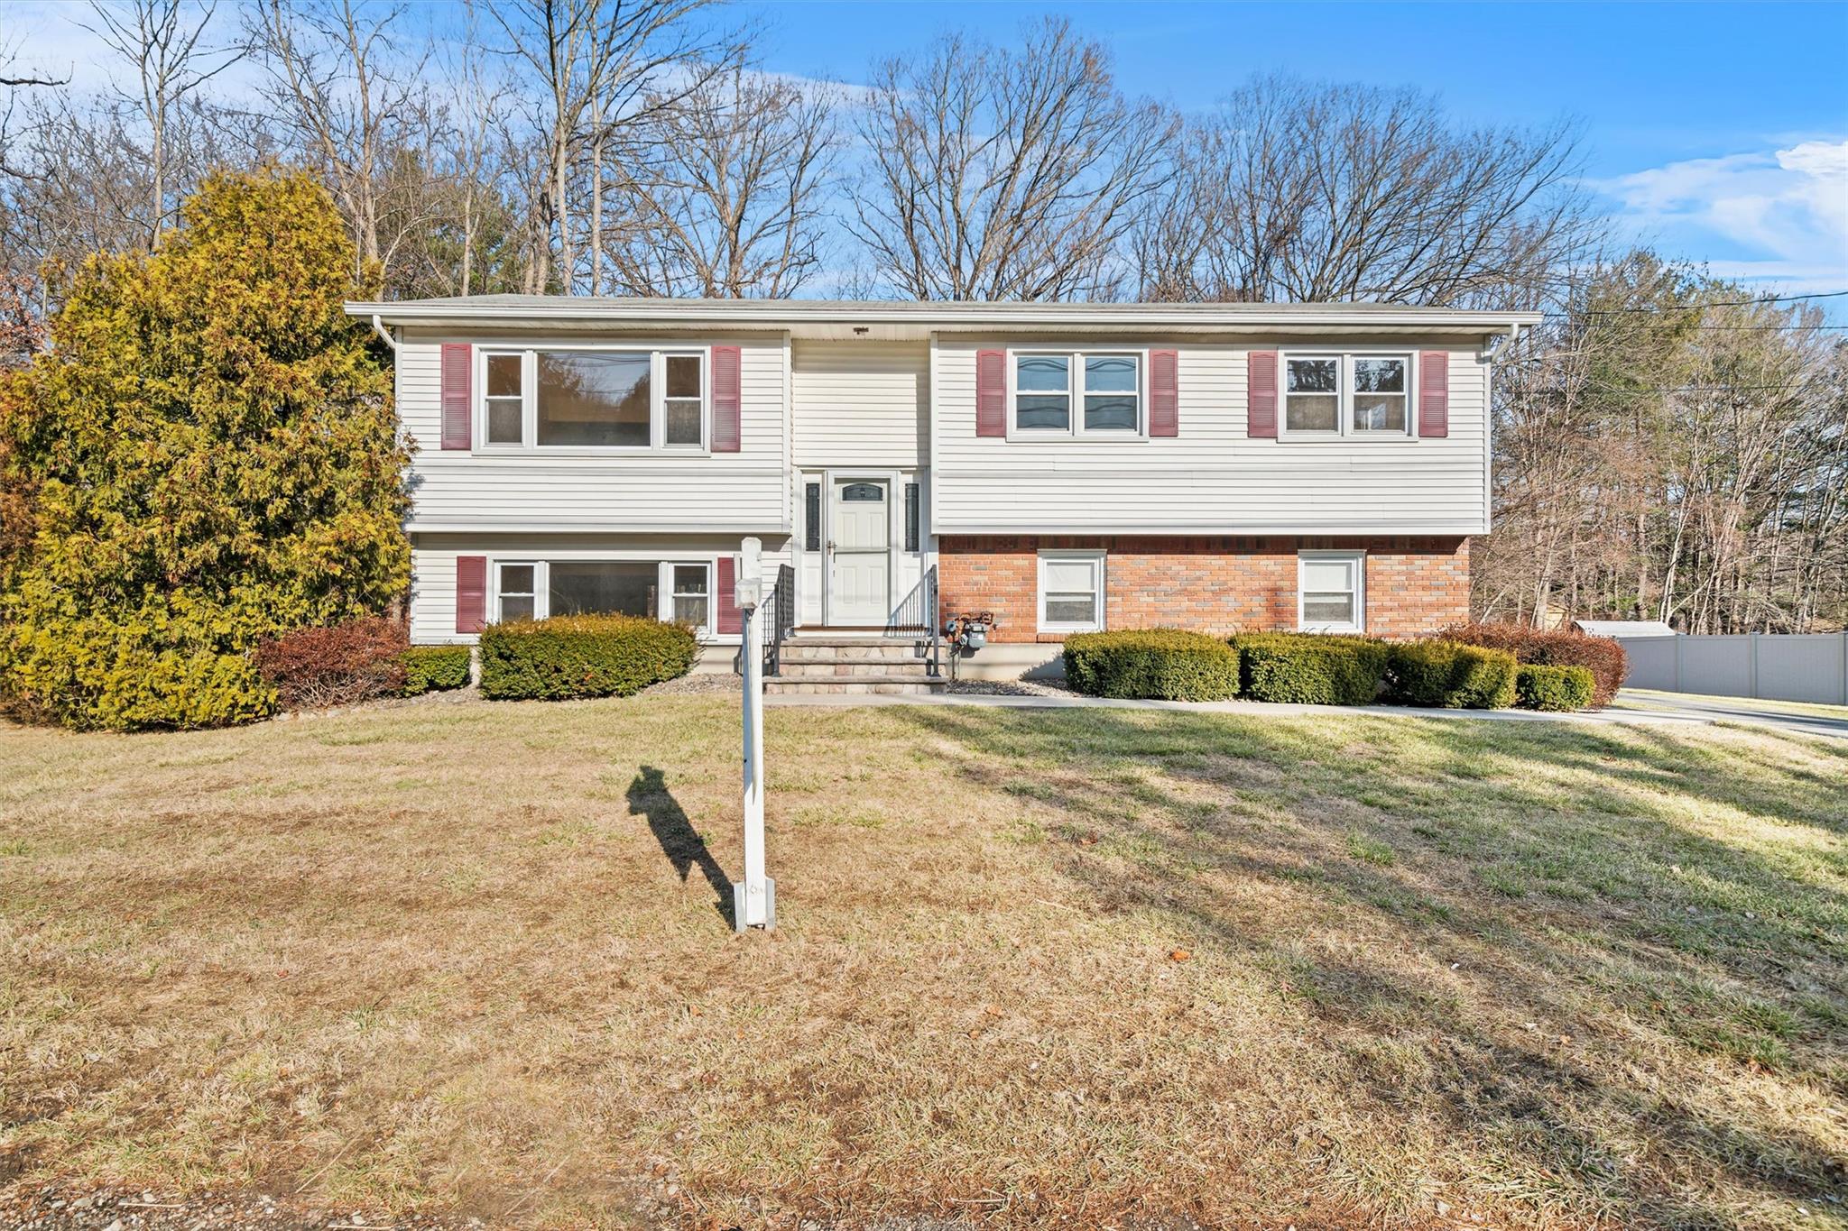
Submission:
{"label": "wide three-part picture window on the upper floor", "polygon": [[704,351],[482,351],[480,436],[488,448],[700,450],[710,376]]}

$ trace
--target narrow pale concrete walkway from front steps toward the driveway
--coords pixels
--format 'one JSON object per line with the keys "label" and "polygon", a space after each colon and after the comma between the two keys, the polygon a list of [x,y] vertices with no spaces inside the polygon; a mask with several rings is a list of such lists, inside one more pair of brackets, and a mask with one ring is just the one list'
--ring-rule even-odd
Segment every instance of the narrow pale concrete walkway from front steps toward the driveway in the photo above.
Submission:
{"label": "narrow pale concrete walkway from front steps toward the driveway", "polygon": [[1587,725],[1632,725],[1632,727],[1709,727],[1719,722],[1756,723],[1791,731],[1796,735],[1818,735],[1824,738],[1848,738],[1848,718],[1818,718],[1791,711],[1754,709],[1750,701],[1724,703],[1724,698],[1689,698],[1687,701],[1663,701],[1650,698],[1648,705],[1626,703],[1619,696],[1611,709],[1584,714],[1539,714],[1525,709],[1412,709],[1406,705],[1270,705],[1266,701],[1129,701],[1116,698],[1087,698],[1076,694],[992,694],[992,692],[941,692],[941,694],[771,694],[765,705],[787,707],[859,707],[859,705],[976,705],[989,709],[1170,709],[1190,714],[1246,714],[1249,718],[1295,718],[1305,714],[1371,714],[1380,718],[1454,718],[1458,722],[1576,722]]}

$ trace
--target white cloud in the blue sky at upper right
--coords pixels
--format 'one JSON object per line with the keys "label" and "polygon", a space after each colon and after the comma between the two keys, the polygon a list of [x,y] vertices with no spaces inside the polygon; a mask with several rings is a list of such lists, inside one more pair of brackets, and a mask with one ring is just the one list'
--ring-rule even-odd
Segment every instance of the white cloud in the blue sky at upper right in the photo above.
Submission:
{"label": "white cloud in the blue sky at upper right", "polygon": [[1593,186],[1641,238],[1720,277],[1848,290],[1848,140],[1689,159]]}

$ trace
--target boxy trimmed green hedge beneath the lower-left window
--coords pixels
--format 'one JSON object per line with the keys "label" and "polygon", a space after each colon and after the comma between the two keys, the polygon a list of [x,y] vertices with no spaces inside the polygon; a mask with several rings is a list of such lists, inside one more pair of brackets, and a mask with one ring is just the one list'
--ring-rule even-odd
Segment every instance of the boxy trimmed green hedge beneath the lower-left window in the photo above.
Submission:
{"label": "boxy trimmed green hedge beneath the lower-left window", "polygon": [[492,701],[630,696],[686,675],[697,655],[691,629],[639,616],[490,624],[480,633],[480,694]]}

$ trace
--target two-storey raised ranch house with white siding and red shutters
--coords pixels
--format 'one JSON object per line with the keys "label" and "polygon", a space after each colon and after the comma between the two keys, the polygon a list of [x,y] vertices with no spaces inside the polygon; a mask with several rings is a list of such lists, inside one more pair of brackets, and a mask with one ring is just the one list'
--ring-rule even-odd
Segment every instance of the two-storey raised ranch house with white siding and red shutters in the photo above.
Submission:
{"label": "two-storey raised ranch house with white siding and red shutters", "polygon": [[1489,364],[1538,321],[547,295],[347,312],[395,347],[418,443],[414,640],[628,611],[699,626],[724,666],[756,535],[778,659],[865,688],[918,685],[955,613],[992,613],[961,664],[989,677],[1048,668],[1085,629],[1465,618]]}

